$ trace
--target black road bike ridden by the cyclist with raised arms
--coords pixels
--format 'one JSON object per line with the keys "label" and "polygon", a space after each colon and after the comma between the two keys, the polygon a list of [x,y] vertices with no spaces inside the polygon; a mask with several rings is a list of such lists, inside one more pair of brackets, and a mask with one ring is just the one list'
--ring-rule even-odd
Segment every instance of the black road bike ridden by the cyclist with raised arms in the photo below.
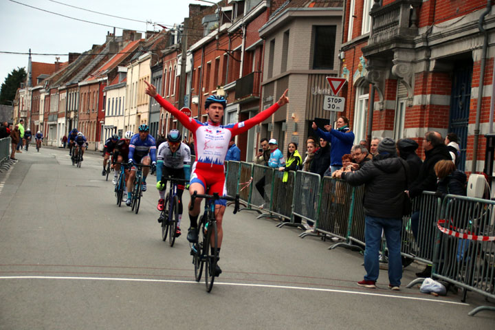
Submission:
{"label": "black road bike ridden by the cyclist with raised arms", "polygon": [[[191,195],[190,210],[192,210],[192,208],[194,207],[196,198],[206,198],[206,203],[204,213],[199,219],[198,225],[198,230],[201,234],[201,238],[198,239],[198,243],[190,243],[190,254],[192,254],[192,263],[195,265],[196,281],[199,282],[201,280],[201,273],[203,272],[204,267],[206,292],[211,292],[215,277],[215,269],[217,267],[217,261],[219,259],[217,245],[217,220],[215,219],[214,214],[214,202],[219,199],[234,201],[234,214],[236,214],[239,210],[239,195],[236,195],[236,197],[219,196],[218,192],[214,192],[213,195],[199,195],[195,191]],[[206,265],[204,265],[205,263]]]}

